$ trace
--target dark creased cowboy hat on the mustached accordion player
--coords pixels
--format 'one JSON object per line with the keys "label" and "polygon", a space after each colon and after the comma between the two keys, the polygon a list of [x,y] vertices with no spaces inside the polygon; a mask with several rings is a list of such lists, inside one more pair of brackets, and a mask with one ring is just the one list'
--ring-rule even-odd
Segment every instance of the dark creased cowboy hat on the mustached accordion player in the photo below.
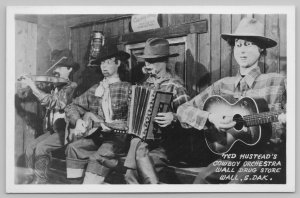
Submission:
{"label": "dark creased cowboy hat on the mustached accordion player", "polygon": [[137,57],[142,59],[156,59],[163,57],[175,57],[179,54],[170,54],[170,45],[166,39],[163,38],[149,38],[146,41],[144,54]]}

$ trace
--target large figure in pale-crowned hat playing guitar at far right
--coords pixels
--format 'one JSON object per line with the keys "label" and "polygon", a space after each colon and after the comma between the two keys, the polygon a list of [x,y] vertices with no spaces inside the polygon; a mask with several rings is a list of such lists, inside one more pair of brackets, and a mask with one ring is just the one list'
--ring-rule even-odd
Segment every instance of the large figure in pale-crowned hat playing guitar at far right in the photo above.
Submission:
{"label": "large figure in pale-crowned hat playing guitar at far right", "polygon": [[[267,141],[249,147],[235,148],[233,146],[234,152],[232,153],[236,154],[237,158],[228,159],[224,158],[224,155],[223,157],[220,155],[219,160],[201,170],[194,183],[285,183],[284,166],[281,167],[280,173],[269,174],[268,178],[260,180],[255,179],[253,175],[259,174],[261,168],[267,167],[258,165],[250,167],[241,161],[238,166],[234,167],[234,171],[224,173],[220,171],[220,168],[226,166],[215,163],[222,162],[224,164],[228,161],[240,161],[238,159],[239,154],[274,154],[273,156],[276,156],[275,161],[281,160],[285,164],[286,77],[277,73],[263,74],[258,67],[259,59],[267,53],[266,49],[276,46],[277,42],[265,37],[263,24],[249,17],[241,20],[233,34],[221,34],[221,37],[233,47],[234,58],[239,65],[239,71],[236,76],[220,79],[191,101],[181,105],[177,110],[177,115],[182,126],[194,127],[199,132],[204,132],[208,126],[214,126],[220,133],[235,127],[237,120],[233,119],[233,111],[224,111],[221,108],[218,113],[205,110],[206,100],[213,96],[231,98],[235,101],[243,97],[263,99],[270,112],[281,112],[282,114],[278,116],[279,122],[272,123],[271,134]],[[221,103],[220,100],[218,102]],[[251,161],[251,159],[247,160]],[[252,160],[255,159],[252,158]],[[247,170],[245,168],[252,170],[255,168],[257,171],[249,173],[245,171]],[[230,177],[224,179],[222,175],[225,174]]]}

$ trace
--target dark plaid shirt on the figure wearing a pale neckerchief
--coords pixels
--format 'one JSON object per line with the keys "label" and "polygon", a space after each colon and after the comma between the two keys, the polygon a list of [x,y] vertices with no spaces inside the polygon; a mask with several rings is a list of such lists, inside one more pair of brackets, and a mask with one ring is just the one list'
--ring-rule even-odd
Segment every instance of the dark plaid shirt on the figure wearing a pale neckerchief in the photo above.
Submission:
{"label": "dark plaid shirt on the figure wearing a pale neckerchief", "polygon": [[[84,114],[86,111],[90,111],[98,116],[100,120],[105,120],[102,110],[102,98],[95,96],[95,91],[99,84],[92,86],[86,92],[79,97],[75,98],[65,109],[67,117],[74,115]],[[128,96],[130,93],[131,85],[128,82],[116,82],[109,85],[110,98],[113,111],[113,120],[127,120],[128,113]],[[78,119],[79,115],[75,119]],[[100,123],[95,123],[94,127],[97,127]]]}

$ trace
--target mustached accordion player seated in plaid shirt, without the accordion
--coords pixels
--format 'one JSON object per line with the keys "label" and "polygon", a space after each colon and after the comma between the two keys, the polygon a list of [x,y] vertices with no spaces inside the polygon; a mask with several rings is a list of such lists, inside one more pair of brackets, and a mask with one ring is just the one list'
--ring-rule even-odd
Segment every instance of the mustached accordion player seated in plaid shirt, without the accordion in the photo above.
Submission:
{"label": "mustached accordion player seated in plaid shirt, without the accordion", "polygon": [[[129,184],[157,184],[157,174],[174,160],[178,150],[177,107],[189,100],[182,80],[172,75],[167,64],[170,57],[178,54],[170,54],[169,42],[163,38],[149,38],[146,41],[144,54],[138,56],[145,60],[144,71],[149,77],[142,83],[143,86],[163,92],[171,92],[173,99],[170,112],[158,113],[154,121],[160,127],[162,133],[154,141],[141,141],[133,138],[125,160],[127,167],[125,180]],[[149,132],[150,133],[150,132]]]}

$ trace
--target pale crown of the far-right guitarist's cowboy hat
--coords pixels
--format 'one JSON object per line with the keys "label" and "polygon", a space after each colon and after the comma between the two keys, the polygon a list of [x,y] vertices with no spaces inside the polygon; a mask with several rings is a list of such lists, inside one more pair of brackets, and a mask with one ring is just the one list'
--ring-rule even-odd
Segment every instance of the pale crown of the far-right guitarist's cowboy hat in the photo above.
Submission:
{"label": "pale crown of the far-right guitarist's cowboy hat", "polygon": [[241,20],[234,34],[247,36],[264,36],[264,26],[254,18],[245,17]]}

